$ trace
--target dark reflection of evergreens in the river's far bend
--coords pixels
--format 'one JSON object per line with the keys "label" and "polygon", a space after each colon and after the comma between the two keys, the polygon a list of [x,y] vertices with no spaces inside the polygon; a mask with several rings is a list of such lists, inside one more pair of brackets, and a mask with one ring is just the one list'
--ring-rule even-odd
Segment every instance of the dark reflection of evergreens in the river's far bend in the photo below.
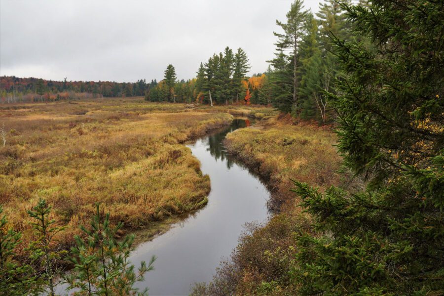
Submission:
{"label": "dark reflection of evergreens in the river's far bend", "polygon": [[[248,126],[250,121],[248,121]],[[226,167],[230,169],[235,162],[234,157],[229,155],[226,151],[226,148],[222,145],[222,140],[225,138],[226,134],[232,132],[238,128],[247,127],[246,120],[243,119],[234,119],[231,125],[221,132],[212,134],[208,136],[208,146],[207,151],[210,151],[210,154],[216,159],[221,159],[224,161],[226,159]]]}

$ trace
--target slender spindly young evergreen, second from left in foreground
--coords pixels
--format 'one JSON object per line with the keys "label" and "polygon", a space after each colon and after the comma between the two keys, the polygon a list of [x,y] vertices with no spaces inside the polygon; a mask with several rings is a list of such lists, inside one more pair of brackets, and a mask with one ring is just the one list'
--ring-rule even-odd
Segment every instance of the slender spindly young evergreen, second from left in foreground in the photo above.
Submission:
{"label": "slender spindly young evergreen, second from left in foreground", "polygon": [[54,236],[65,229],[65,227],[57,226],[55,220],[49,218],[51,208],[51,206],[46,204],[45,200],[39,199],[37,205],[27,212],[31,218],[35,219],[35,222],[32,222],[31,225],[37,237],[29,247],[31,251],[30,258],[44,269],[45,284],[48,285],[49,294],[54,296],[54,281],[60,273],[60,270],[57,268],[57,262],[67,252],[57,251],[54,250],[53,246],[51,247],[54,242]]}

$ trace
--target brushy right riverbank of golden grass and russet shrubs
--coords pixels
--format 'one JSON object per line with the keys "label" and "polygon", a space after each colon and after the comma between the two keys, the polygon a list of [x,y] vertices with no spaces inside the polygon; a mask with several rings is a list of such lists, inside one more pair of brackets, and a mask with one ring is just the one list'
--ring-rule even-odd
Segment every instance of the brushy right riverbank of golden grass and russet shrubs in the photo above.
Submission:
{"label": "brushy right riverbank of golden grass and russet shrubs", "polygon": [[296,123],[272,117],[254,127],[226,136],[228,152],[253,169],[266,183],[275,214],[265,223],[250,223],[229,259],[222,262],[213,282],[194,287],[194,296],[294,295],[292,268],[297,234],[313,233],[310,217],[298,207],[290,179],[307,182],[321,191],[332,185],[359,187],[340,172],[336,135],[331,127]]}

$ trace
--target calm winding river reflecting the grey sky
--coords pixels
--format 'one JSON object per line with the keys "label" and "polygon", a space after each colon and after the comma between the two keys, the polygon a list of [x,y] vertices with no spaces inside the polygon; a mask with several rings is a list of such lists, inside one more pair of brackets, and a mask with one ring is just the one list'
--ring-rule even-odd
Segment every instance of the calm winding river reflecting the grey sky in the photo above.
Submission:
{"label": "calm winding river reflecting the grey sky", "polygon": [[136,285],[141,290],[148,287],[150,296],[188,295],[193,283],[211,281],[221,259],[236,247],[243,225],[267,219],[267,189],[222,144],[227,133],[248,125],[248,120],[235,119],[229,127],[188,145],[202,172],[210,176],[209,202],[165,234],[140,244],[131,255],[136,268],[140,261],[157,257],[154,270]]}

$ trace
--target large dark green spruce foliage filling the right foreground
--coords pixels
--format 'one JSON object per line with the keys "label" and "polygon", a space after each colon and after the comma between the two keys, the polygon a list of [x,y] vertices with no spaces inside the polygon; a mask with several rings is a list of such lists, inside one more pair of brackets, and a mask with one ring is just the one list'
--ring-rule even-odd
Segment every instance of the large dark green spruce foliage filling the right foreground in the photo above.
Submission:
{"label": "large dark green spruce foliage filling the right foreground", "polygon": [[329,99],[344,163],[369,185],[321,194],[295,182],[319,233],[298,239],[299,293],[441,295],[444,3],[343,7],[374,45],[333,36],[345,77]]}

